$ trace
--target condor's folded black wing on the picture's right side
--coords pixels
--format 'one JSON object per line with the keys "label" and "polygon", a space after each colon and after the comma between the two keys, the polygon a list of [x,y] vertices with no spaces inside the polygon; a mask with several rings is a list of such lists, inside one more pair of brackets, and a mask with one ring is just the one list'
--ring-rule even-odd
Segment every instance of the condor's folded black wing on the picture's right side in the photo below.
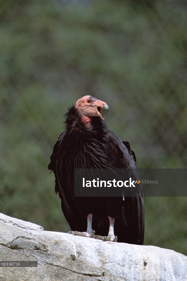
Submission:
{"label": "condor's folded black wing on the picture's right side", "polygon": [[[108,135],[108,149],[113,157],[113,168],[137,169],[136,156],[131,150],[129,143],[124,141],[122,142],[112,131],[109,131]],[[138,170],[136,173],[136,178],[140,178]],[[123,201],[121,210],[121,219],[123,219],[124,222],[123,225],[120,218],[115,220],[115,235],[117,235],[119,242],[143,245],[144,202],[141,183],[139,185],[138,192],[141,196],[124,198],[125,200]]]}

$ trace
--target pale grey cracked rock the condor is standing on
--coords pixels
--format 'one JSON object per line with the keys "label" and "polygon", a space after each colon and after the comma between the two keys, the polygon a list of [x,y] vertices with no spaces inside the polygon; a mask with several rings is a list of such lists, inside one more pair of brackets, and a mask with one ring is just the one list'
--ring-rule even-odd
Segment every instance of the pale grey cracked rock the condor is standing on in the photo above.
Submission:
{"label": "pale grey cracked rock the condor is standing on", "polygon": [[0,261],[37,261],[37,267],[0,267],[0,281],[187,281],[187,257],[155,246],[103,242],[0,213]]}

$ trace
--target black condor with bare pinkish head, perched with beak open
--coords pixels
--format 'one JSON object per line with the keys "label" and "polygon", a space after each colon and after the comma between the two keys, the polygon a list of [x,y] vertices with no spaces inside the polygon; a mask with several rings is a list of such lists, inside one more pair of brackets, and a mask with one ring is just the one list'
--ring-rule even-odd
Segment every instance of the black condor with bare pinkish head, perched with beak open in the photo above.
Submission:
{"label": "black condor with bare pinkish head, perched with beak open", "polygon": [[74,169],[137,169],[127,141],[108,129],[106,102],[80,98],[65,113],[66,129],[58,137],[48,169],[55,174],[55,192],[71,231],[69,234],[143,245],[144,201],[131,197],[75,197]]}

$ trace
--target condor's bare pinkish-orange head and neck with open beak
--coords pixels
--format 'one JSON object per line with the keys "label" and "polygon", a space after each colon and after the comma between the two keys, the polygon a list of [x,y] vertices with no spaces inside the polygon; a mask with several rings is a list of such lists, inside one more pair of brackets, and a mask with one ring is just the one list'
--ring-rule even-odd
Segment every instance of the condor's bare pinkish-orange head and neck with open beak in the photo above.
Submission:
{"label": "condor's bare pinkish-orange head and neck with open beak", "polygon": [[102,102],[92,96],[84,96],[83,98],[80,98],[76,102],[75,107],[80,112],[81,120],[86,127],[89,127],[94,116],[98,116],[101,119],[104,119],[102,108],[109,110],[109,107],[106,102]]}

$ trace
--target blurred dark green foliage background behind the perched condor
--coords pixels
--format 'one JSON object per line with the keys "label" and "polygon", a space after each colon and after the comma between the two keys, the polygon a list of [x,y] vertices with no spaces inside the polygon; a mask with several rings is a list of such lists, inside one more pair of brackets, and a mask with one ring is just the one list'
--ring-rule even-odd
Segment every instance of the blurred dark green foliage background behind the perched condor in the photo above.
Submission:
{"label": "blurred dark green foliage background behind the perched condor", "polygon": [[[1,1],[0,212],[69,231],[49,174],[84,95],[139,168],[187,167],[185,1]],[[145,198],[145,245],[187,255],[187,198]]]}

